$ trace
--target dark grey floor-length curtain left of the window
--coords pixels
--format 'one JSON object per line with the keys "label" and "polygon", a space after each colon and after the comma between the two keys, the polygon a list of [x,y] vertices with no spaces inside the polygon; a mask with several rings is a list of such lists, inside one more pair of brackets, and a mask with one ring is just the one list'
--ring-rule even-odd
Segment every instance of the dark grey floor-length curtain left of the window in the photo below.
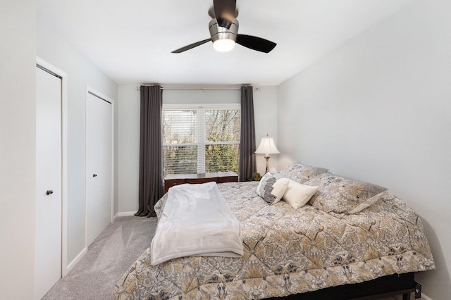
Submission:
{"label": "dark grey floor-length curtain left of the window", "polygon": [[154,204],[163,196],[161,163],[162,89],[142,85],[140,130],[140,194],[135,215],[155,217]]}

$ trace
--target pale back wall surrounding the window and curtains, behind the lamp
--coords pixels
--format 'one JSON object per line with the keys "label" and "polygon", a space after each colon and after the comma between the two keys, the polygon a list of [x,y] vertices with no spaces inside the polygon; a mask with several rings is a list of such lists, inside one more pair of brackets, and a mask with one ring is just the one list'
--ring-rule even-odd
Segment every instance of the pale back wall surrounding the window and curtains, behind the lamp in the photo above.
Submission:
{"label": "pale back wall surrounding the window and curtains, behind the lamp", "polygon": [[[138,85],[118,86],[118,212],[137,211],[140,162],[140,91]],[[163,90],[163,104],[240,103],[239,90]],[[276,87],[254,90],[257,146],[266,134],[277,142]],[[277,168],[277,156],[270,165]],[[263,156],[257,155],[257,170],[264,173]]]}

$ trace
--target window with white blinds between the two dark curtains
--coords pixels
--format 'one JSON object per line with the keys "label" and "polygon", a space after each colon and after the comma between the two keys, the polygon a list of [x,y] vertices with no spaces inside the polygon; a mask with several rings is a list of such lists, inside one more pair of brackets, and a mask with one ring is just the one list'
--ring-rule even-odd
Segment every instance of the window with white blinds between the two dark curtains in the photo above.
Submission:
{"label": "window with white blinds between the two dark curtains", "polygon": [[163,176],[238,173],[239,105],[163,106]]}

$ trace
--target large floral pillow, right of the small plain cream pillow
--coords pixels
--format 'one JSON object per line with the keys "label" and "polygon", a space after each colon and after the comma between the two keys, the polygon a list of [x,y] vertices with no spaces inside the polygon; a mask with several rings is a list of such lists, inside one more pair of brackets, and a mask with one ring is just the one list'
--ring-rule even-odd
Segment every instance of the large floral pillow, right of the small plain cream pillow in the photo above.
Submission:
{"label": "large floral pillow, right of the small plain cream pillow", "polygon": [[387,190],[385,187],[330,172],[309,180],[306,185],[319,186],[309,204],[327,213],[358,213],[376,203]]}

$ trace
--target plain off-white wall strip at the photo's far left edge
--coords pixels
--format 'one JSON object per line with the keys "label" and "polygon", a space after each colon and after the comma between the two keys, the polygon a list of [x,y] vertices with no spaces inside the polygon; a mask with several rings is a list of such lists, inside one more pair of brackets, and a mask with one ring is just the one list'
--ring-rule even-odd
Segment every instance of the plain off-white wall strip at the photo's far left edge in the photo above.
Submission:
{"label": "plain off-white wall strip at the photo's far left edge", "polygon": [[[0,9],[0,290],[32,299],[35,265],[35,1]],[[18,276],[13,275],[18,271]]]}

